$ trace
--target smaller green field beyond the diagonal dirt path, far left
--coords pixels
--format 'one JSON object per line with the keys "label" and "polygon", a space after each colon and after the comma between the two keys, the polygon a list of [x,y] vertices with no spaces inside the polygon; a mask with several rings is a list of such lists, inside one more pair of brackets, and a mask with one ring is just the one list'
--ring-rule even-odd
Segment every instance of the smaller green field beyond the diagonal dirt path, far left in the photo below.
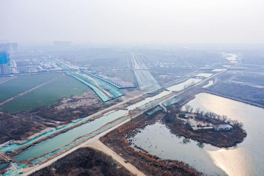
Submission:
{"label": "smaller green field beyond the diagonal dirt path, far left", "polygon": [[0,84],[0,102],[15,97],[60,75],[61,73],[24,75],[2,83]]}

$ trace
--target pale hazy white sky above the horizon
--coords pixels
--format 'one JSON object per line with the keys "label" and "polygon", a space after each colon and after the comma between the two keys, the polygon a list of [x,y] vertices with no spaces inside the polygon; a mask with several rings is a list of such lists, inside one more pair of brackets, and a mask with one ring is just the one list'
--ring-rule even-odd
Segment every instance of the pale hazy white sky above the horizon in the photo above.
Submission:
{"label": "pale hazy white sky above the horizon", "polygon": [[264,42],[264,0],[0,0],[0,40]]}

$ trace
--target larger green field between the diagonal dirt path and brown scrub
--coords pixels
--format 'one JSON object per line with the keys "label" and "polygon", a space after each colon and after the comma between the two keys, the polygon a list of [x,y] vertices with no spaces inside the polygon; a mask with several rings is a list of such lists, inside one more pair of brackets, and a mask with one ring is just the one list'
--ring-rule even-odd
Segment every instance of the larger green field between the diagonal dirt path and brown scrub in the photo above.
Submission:
{"label": "larger green field between the diagonal dirt path and brown scrub", "polygon": [[45,84],[42,87],[25,94],[0,108],[1,111],[16,112],[29,111],[34,107],[48,106],[56,102],[61,97],[70,97],[71,95],[81,95],[87,90],[87,86],[77,79],[65,75],[59,79]]}

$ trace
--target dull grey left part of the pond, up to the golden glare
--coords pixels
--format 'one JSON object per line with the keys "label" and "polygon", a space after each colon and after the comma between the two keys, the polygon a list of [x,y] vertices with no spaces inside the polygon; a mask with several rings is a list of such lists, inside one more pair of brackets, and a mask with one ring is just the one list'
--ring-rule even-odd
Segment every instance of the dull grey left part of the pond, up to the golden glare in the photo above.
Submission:
{"label": "dull grey left part of the pond, up to the golden glare", "polygon": [[146,126],[136,134],[133,143],[162,159],[184,161],[209,175],[226,175],[207,154],[207,150],[217,151],[219,148],[208,144],[201,144],[203,148],[198,147],[198,142],[170,133],[166,125],[160,122]]}

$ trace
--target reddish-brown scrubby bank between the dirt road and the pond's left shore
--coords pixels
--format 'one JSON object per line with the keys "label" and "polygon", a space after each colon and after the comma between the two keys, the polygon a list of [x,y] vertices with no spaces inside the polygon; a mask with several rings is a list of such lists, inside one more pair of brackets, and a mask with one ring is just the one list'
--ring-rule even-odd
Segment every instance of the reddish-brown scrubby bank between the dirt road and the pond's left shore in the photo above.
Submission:
{"label": "reddish-brown scrubby bank between the dirt road and the pond's left shore", "polygon": [[194,168],[178,160],[161,160],[158,156],[146,152],[136,151],[130,146],[131,142],[127,138],[135,135],[138,130],[146,125],[154,123],[159,116],[147,118],[140,115],[138,118],[120,126],[107,133],[100,140],[113,151],[122,155],[122,158],[130,162],[137,169],[146,175],[200,175]]}

